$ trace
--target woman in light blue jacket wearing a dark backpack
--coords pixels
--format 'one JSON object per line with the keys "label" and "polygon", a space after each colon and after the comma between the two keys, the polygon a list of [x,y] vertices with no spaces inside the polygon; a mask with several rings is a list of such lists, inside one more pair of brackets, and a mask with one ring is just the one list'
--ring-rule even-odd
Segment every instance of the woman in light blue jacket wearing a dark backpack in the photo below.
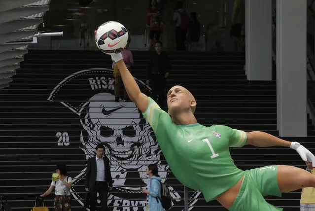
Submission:
{"label": "woman in light blue jacket wearing a dark backpack", "polygon": [[143,193],[148,195],[146,211],[164,211],[161,203],[161,177],[159,169],[155,164],[148,165],[146,175],[149,176],[147,189],[141,188]]}

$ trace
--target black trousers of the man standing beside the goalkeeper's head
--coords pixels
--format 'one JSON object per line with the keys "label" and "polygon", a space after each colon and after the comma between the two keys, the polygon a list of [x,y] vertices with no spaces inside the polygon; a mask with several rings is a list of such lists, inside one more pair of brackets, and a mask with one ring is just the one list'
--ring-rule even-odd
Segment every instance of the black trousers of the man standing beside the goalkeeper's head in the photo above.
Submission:
{"label": "black trousers of the man standing beside the goalkeeper's head", "polygon": [[165,75],[153,75],[151,80],[152,99],[164,109]]}

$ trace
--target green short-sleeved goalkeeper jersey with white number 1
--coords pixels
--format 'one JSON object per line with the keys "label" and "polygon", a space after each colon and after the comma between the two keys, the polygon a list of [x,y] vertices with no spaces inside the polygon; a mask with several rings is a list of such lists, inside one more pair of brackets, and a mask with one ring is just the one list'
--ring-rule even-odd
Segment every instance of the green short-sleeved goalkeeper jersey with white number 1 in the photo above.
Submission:
{"label": "green short-sleeved goalkeeper jersey with white number 1", "polygon": [[229,147],[242,147],[246,133],[223,125],[175,125],[151,98],[143,113],[151,125],[174,176],[199,190],[206,201],[234,186],[245,174],[231,158]]}

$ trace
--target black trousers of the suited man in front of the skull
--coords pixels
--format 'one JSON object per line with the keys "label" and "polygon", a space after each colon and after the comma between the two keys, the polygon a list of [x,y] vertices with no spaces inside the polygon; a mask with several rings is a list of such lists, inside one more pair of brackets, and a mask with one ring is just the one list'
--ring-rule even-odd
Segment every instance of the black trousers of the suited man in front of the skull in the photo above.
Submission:
{"label": "black trousers of the suited man in front of the skull", "polygon": [[97,193],[100,194],[101,198],[101,211],[107,211],[107,196],[108,196],[108,185],[107,182],[95,182],[93,190],[90,191],[90,211],[96,211],[97,205]]}

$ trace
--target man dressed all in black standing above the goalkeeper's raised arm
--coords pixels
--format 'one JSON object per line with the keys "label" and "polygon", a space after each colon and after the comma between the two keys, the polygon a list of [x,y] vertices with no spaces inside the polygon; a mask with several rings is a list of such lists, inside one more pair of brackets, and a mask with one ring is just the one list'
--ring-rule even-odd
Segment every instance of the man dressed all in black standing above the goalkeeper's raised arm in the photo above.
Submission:
{"label": "man dressed all in black standing above the goalkeeper's raised arm", "polygon": [[151,55],[147,67],[146,84],[150,85],[154,99],[163,109],[165,81],[170,74],[171,64],[167,53],[162,52],[162,42],[155,42],[155,52]]}

